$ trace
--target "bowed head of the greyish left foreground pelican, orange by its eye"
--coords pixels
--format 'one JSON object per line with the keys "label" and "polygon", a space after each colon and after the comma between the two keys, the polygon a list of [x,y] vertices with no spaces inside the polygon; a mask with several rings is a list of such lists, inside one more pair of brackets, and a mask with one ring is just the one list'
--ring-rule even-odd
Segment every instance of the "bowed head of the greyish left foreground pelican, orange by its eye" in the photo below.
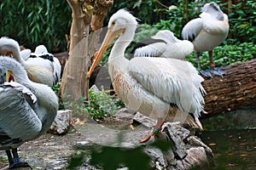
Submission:
{"label": "bowed head of the greyish left foreground pelican, orange by its eye", "polygon": [[28,81],[25,69],[18,61],[10,57],[0,56],[1,82],[25,82]]}

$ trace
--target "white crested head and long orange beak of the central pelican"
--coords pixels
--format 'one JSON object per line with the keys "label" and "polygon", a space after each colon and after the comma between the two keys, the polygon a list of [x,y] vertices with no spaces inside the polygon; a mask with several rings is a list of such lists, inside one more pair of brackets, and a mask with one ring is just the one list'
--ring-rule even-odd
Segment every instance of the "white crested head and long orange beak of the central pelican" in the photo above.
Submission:
{"label": "white crested head and long orange beak of the central pelican", "polygon": [[132,38],[134,37],[136,28],[137,19],[124,8],[119,9],[119,11],[113,14],[108,21],[108,32],[102,42],[101,48],[95,54],[95,61],[90,66],[90,71],[87,73],[87,77],[90,77],[90,74],[102,59],[103,54],[112,44],[114,38],[118,37],[120,34],[123,34],[124,38],[122,41],[125,43],[131,42]]}

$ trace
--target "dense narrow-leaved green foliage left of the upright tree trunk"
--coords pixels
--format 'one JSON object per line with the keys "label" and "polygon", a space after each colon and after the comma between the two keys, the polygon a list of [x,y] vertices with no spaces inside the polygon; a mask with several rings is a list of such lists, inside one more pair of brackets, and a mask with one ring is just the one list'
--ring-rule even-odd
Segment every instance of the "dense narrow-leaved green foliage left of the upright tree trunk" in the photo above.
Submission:
{"label": "dense narrow-leaved green foliage left of the upright tree trunk", "polygon": [[49,52],[66,49],[71,9],[67,1],[3,1],[0,5],[0,36],[14,38],[26,48],[44,44]]}

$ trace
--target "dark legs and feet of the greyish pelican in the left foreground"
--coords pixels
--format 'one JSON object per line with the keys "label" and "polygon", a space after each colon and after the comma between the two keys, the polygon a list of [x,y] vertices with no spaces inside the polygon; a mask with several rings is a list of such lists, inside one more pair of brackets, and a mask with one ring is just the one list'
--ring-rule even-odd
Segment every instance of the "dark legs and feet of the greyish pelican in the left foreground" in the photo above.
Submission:
{"label": "dark legs and feet of the greyish pelican in the left foreground", "polygon": [[[13,149],[12,154],[14,157],[11,156],[10,151],[6,151],[7,156],[11,159],[9,160],[9,169],[15,169],[16,167],[30,167],[27,162],[20,161],[20,157],[18,155],[18,150]],[[30,167],[32,169],[32,167]]]}

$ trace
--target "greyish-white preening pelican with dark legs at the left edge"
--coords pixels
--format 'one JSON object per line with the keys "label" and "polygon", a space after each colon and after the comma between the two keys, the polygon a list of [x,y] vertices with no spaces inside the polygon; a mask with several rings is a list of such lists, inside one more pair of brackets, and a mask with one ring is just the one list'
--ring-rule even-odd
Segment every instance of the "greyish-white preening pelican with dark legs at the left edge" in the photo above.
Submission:
{"label": "greyish-white preening pelican with dark legs at the left edge", "polygon": [[6,150],[9,168],[29,167],[20,161],[17,148],[46,133],[58,111],[58,98],[49,86],[30,81],[15,59],[1,56],[0,77],[9,73],[15,82],[0,79],[0,150]]}

